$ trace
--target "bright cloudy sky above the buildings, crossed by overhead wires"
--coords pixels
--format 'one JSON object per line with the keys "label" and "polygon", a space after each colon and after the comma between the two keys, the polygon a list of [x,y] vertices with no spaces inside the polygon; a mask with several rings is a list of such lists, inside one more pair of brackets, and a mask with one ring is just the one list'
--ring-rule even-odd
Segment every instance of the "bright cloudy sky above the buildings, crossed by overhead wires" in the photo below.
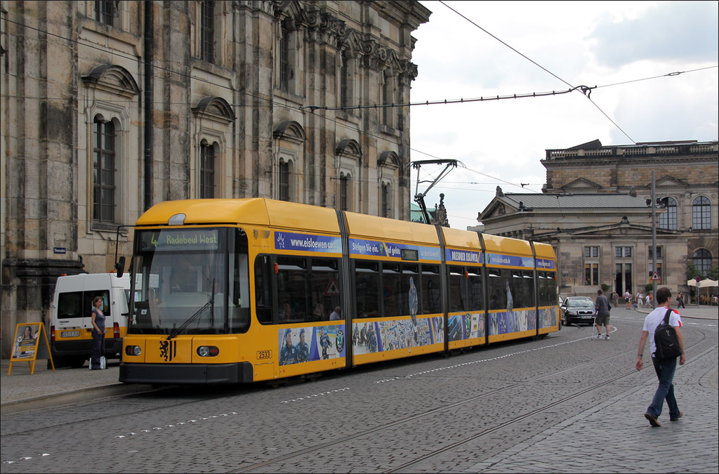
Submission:
{"label": "bright cloudy sky above the buildings, crossed by overhead wires", "polygon": [[[425,199],[433,209],[444,193],[451,227],[477,225],[497,186],[540,193],[545,150],[719,138],[717,1],[421,3],[432,14],[413,33],[412,102],[598,86],[590,99],[574,91],[412,106],[411,160],[463,164]],[[442,169],[413,169],[412,196]]]}

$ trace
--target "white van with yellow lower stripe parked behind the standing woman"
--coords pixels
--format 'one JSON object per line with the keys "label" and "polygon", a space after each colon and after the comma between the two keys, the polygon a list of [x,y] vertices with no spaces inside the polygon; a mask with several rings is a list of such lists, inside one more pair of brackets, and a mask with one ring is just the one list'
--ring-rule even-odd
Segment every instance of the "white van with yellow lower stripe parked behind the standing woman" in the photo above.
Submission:
{"label": "white van with yellow lower stripe parked behind the standing woman", "polygon": [[[58,277],[52,296],[50,350],[55,367],[82,367],[92,348],[92,300],[101,296],[105,314],[105,357],[119,358],[127,334],[130,276],[83,273]],[[49,361],[48,361],[49,362]]]}

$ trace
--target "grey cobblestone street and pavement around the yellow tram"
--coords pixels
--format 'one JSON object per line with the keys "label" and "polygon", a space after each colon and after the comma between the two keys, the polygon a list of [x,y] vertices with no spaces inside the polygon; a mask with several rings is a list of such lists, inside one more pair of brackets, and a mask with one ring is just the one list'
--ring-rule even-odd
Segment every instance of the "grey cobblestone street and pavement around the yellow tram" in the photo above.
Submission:
{"label": "grey cobblestone street and pavement around the yellow tram", "polygon": [[[564,327],[278,389],[163,393],[117,383],[116,361],[3,361],[2,472],[716,473],[719,311],[700,310],[681,311],[697,329],[674,379],[684,416],[658,428],[643,416],[654,370],[631,370],[644,314],[624,309],[610,341]],[[106,398],[121,390],[145,393]]]}

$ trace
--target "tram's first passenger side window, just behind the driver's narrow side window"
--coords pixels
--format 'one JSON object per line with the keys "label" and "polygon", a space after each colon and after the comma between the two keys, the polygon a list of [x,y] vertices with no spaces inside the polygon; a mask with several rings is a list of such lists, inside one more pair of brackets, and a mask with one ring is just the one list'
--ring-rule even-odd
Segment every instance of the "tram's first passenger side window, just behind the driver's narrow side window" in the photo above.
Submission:
{"label": "tram's first passenger side window, just behind the driver's narrow side window", "polygon": [[280,323],[308,321],[306,259],[278,256],[277,263]]}

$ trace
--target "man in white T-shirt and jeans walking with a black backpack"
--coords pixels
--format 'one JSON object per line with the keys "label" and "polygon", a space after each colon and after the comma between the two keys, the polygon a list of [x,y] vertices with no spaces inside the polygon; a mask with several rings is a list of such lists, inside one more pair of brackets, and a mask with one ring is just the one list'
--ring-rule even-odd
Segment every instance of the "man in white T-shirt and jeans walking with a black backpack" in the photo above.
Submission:
{"label": "man in white T-shirt and jeans walking with a black backpack", "polygon": [[687,355],[684,354],[684,339],[682,338],[682,317],[679,316],[677,310],[669,309],[670,301],[672,301],[672,291],[669,290],[669,288],[664,286],[656,291],[656,308],[647,314],[644,319],[644,328],[641,331],[639,350],[636,358],[636,370],[641,370],[644,367],[644,361],[642,360],[644,345],[646,344],[646,339],[649,337],[651,361],[654,363],[654,370],[656,371],[656,378],[659,379],[659,386],[656,388],[654,399],[652,399],[649,408],[646,409],[644,417],[649,420],[649,424],[653,427],[661,426],[661,423],[659,423],[657,419],[659,415],[661,415],[661,409],[664,406],[665,399],[669,406],[669,421],[677,421],[683,415],[682,411],[679,410],[679,406],[677,406],[677,398],[674,398],[674,384],[672,383],[672,380],[674,380],[674,371],[677,369],[677,357],[674,356],[661,360],[658,355],[658,352],[661,354],[661,350],[657,351],[654,340],[656,328],[664,322],[664,318],[667,316],[667,312],[669,312],[669,325],[674,328],[674,332],[677,334],[677,341],[679,342],[679,349],[681,350],[679,365],[684,365],[687,361]]}

